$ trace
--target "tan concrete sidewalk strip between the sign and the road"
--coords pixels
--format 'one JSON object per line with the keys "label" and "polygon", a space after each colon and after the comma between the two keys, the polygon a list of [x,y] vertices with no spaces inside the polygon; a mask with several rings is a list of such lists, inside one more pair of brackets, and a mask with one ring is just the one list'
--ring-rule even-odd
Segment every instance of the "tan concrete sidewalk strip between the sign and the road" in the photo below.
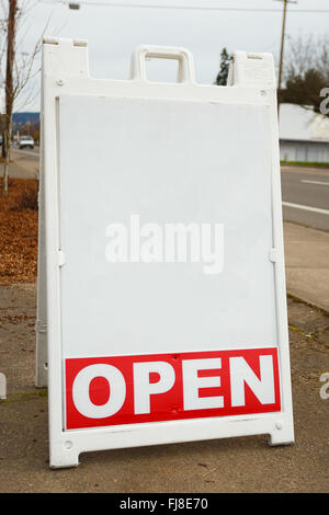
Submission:
{"label": "tan concrete sidewalk strip between the sign and the road", "polygon": [[329,312],[329,232],[284,222],[287,291]]}

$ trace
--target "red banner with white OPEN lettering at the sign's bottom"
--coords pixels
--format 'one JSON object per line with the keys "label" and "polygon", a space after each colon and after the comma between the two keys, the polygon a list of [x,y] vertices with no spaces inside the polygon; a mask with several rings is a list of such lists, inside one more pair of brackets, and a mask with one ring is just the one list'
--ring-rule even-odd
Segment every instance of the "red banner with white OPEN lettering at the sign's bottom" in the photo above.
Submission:
{"label": "red banner with white OPEN lettering at the sign's bottom", "polygon": [[281,411],[276,347],[65,365],[67,430]]}

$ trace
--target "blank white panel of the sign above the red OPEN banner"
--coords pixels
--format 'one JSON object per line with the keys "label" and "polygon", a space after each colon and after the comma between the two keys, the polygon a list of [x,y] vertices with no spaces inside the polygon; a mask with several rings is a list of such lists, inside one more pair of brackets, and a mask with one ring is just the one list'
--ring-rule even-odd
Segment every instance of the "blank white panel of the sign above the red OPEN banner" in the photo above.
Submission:
{"label": "blank white panel of the sign above the red OPEN banner", "polygon": [[[266,105],[59,98],[64,358],[277,345],[269,119]],[[220,224],[222,271],[110,263],[106,228],[132,216]]]}

